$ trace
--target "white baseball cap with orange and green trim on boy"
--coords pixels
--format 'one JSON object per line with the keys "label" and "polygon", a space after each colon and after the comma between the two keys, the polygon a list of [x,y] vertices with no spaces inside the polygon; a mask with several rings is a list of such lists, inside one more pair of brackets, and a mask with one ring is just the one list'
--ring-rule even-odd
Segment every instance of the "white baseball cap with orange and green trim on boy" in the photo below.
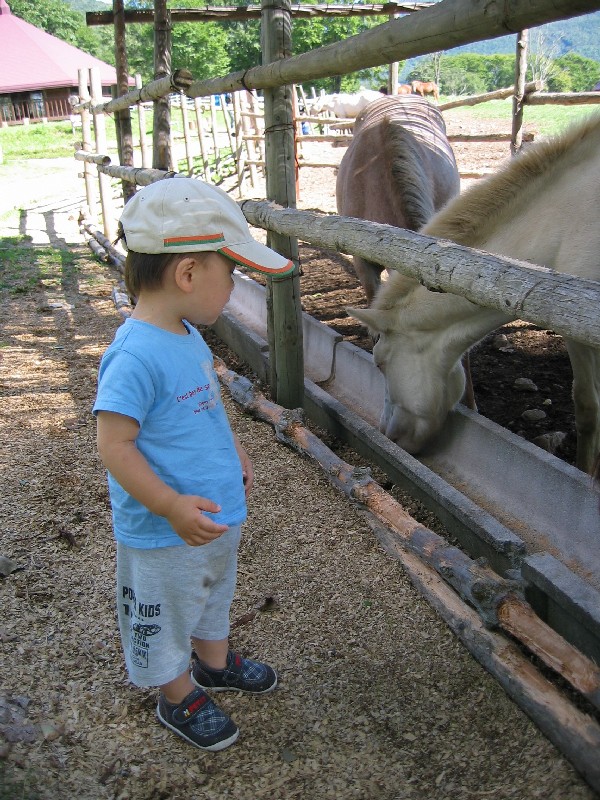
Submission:
{"label": "white baseball cap with orange and green trim on boy", "polygon": [[176,175],[144,186],[121,214],[128,250],[213,251],[267,275],[288,275],[293,261],[252,238],[235,200],[217,186]]}

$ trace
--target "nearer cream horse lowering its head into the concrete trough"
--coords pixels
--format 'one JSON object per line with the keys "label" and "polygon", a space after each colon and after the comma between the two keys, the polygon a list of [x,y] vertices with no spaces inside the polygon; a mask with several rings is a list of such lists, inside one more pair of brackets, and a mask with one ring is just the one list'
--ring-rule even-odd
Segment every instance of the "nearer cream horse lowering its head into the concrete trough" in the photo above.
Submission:
{"label": "nearer cream horse lowering its head into the concrete trough", "polygon": [[[598,186],[600,115],[532,146],[450,202],[421,233],[600,280]],[[373,350],[386,379],[380,427],[411,453],[442,428],[459,401],[462,354],[514,319],[429,291],[398,272],[372,308],[350,313],[380,333]],[[565,345],[573,368],[577,466],[589,472],[600,449],[600,350],[569,339]]]}

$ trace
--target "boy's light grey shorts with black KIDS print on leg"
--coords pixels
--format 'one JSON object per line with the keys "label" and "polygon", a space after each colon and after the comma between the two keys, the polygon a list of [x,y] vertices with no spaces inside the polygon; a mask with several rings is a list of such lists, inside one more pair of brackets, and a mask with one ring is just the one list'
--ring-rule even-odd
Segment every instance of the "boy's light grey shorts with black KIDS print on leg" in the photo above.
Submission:
{"label": "boy's light grey shorts with black KIDS print on leg", "polygon": [[117,542],[117,614],[136,686],[162,686],[184,673],[192,637],[227,638],[240,534],[234,525],[200,547]]}

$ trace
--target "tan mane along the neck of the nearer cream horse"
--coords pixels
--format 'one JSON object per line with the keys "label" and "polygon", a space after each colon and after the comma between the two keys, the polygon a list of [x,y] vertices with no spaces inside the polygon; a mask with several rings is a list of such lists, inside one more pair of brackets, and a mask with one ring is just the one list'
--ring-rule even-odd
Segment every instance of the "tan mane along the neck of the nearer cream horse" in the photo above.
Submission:
{"label": "tan mane along the neck of the nearer cream horse", "polygon": [[512,200],[530,189],[536,179],[572,163],[577,157],[575,148],[596,148],[598,135],[600,114],[594,114],[561,135],[536,143],[500,172],[451,200],[420,233],[476,246]]}

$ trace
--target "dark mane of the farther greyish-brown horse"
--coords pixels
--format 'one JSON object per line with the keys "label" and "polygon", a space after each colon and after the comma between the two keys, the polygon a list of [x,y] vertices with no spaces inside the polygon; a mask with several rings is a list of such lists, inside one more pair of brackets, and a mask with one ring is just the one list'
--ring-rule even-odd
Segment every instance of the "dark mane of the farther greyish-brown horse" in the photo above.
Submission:
{"label": "dark mane of the farther greyish-brown horse", "polygon": [[431,184],[422,166],[422,153],[414,136],[399,120],[387,120],[388,163],[398,189],[404,227],[418,231],[433,216]]}

